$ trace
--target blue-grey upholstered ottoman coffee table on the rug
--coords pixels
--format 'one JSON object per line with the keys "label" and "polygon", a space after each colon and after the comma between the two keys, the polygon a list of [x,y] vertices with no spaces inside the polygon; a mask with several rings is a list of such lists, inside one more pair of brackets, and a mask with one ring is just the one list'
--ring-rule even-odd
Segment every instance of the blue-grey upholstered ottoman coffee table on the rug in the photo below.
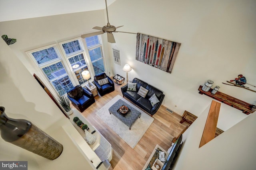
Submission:
{"label": "blue-grey upholstered ottoman coffee table on the rug", "polygon": [[[123,113],[119,112],[119,108],[121,106],[127,106],[130,111],[126,115],[122,115]],[[134,107],[130,106],[123,100],[119,99],[116,103],[114,103],[109,109],[110,114],[113,114],[115,117],[117,117],[120,121],[122,121],[125,125],[129,127],[131,130],[132,125],[134,122],[140,118],[140,111],[136,110]]]}

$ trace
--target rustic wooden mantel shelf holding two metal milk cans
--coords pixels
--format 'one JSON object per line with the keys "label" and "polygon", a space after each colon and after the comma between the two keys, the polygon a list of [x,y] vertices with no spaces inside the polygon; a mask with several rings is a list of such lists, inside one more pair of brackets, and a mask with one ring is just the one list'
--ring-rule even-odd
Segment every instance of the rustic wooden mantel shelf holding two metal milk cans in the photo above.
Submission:
{"label": "rustic wooden mantel shelf holding two metal milk cans", "polygon": [[246,103],[232,96],[228,96],[227,94],[224,94],[222,92],[216,92],[216,94],[212,94],[211,93],[212,88],[208,92],[204,92],[202,90],[202,86],[199,86],[198,90],[199,90],[199,94],[205,94],[206,96],[209,96],[215,100],[218,100],[224,104],[227,104],[228,106],[242,110],[242,112],[245,113],[246,115],[254,112],[252,111],[252,107],[254,105]]}

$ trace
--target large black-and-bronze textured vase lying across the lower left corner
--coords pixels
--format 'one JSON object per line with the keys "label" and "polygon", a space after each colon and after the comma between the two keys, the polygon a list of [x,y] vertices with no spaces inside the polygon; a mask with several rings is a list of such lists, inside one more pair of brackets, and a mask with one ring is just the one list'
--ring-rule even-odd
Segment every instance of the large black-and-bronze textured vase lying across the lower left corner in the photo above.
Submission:
{"label": "large black-and-bronze textured vase lying across the lower left corner", "polygon": [[58,141],[28,120],[9,118],[4,110],[0,107],[0,132],[4,141],[50,160],[60,156],[63,146]]}

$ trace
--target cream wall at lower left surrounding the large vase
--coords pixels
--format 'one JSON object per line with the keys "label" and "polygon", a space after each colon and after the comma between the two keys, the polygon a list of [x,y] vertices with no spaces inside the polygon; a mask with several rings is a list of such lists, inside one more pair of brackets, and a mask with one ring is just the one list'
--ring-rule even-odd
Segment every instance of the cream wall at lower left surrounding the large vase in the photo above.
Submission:
{"label": "cream wall at lower left surrounding the large vase", "polygon": [[[48,160],[0,137],[0,160],[28,161],[28,170],[96,169],[72,141],[80,140],[82,144],[84,139],[2,39],[0,72],[0,106],[5,107],[7,116],[31,121],[63,145],[62,154],[55,160]],[[62,126],[72,131],[73,139],[68,137]]]}

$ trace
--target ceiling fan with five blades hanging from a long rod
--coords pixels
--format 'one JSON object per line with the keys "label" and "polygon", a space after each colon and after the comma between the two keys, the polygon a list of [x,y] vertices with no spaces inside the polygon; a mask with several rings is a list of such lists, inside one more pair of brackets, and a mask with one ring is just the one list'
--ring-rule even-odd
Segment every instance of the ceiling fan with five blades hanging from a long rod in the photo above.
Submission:
{"label": "ceiling fan with five blades hanging from a long rod", "polygon": [[[105,0],[106,3],[106,11],[107,11],[107,18],[108,18],[108,6],[107,6],[107,0]],[[93,27],[92,29],[98,29],[100,31],[98,32],[93,32],[93,33],[87,33],[87,34],[83,34],[81,35],[82,38],[86,38],[86,37],[91,37],[94,35],[100,35],[103,33],[108,33],[108,42],[109,43],[116,43],[115,39],[114,39],[114,35],[112,34],[113,32],[120,32],[120,33],[131,33],[131,32],[124,32],[124,31],[116,31],[117,28],[123,27],[124,25],[115,27],[114,25],[110,25],[109,21],[107,23],[107,25],[103,26],[103,27]],[[136,34],[136,33],[132,33],[132,34]]]}

